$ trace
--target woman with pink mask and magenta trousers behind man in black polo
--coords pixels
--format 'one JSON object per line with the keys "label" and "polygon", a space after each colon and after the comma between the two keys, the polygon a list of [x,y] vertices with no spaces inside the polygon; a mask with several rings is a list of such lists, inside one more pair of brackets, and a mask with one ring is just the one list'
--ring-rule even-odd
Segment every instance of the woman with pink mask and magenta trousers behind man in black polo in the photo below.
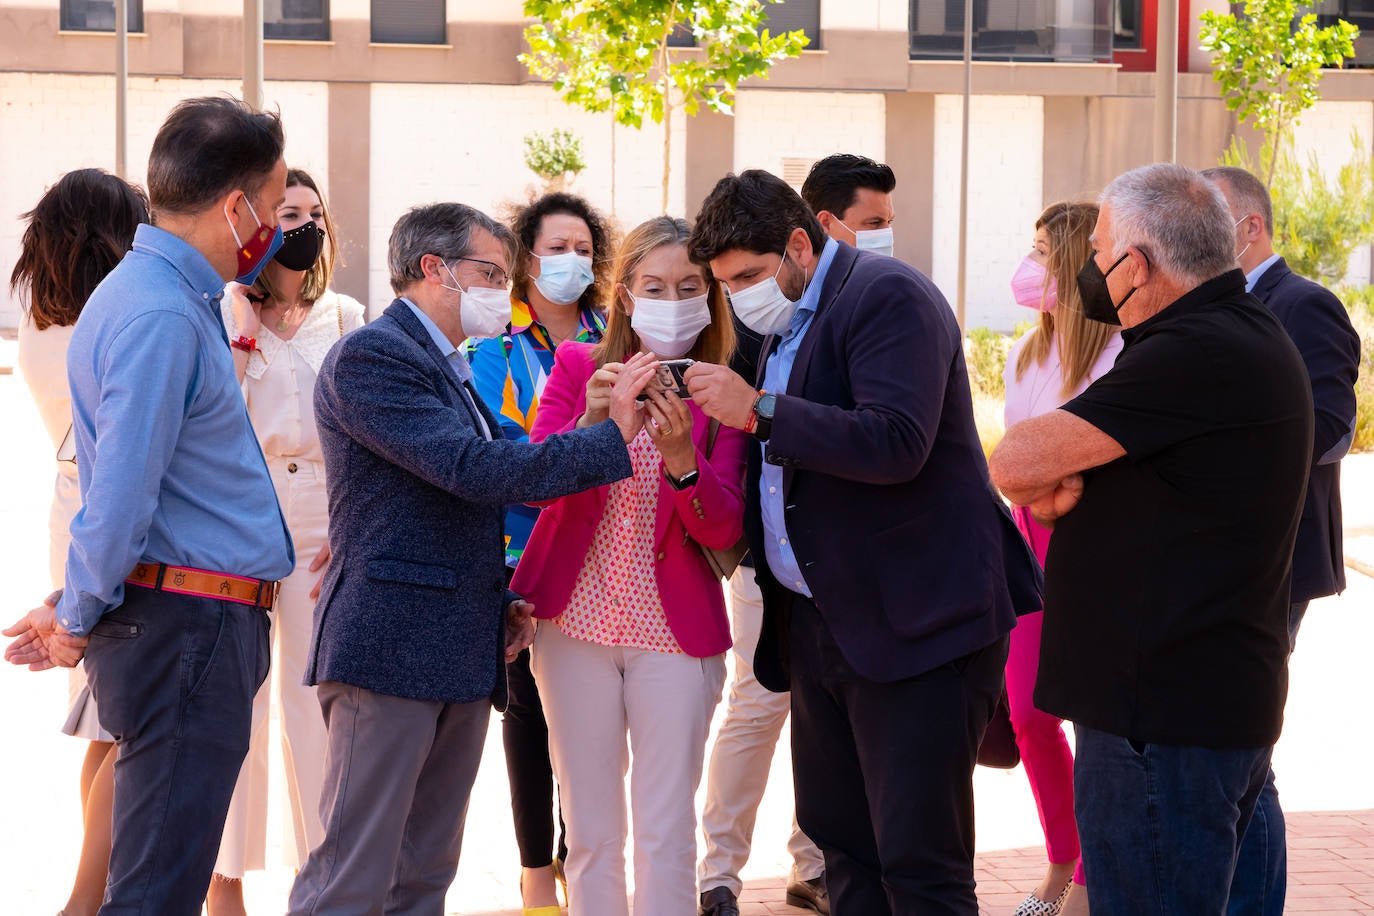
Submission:
{"label": "woman with pink mask and magenta trousers behind man in black polo", "polygon": [[[1040,313],[1040,323],[1007,356],[1007,427],[1076,397],[1110,369],[1121,352],[1117,330],[1085,319],[1079,304],[1076,277],[1092,251],[1088,238],[1096,221],[1098,207],[1091,203],[1052,203],[1036,220],[1035,244],[1011,277],[1011,293],[1020,305]],[[1050,529],[1024,507],[1014,508],[1013,515],[1036,559],[1044,563]],[[1015,916],[1085,913],[1088,905],[1073,820],[1073,753],[1062,721],[1041,713],[1033,702],[1043,617],[1040,611],[1017,621],[1007,655],[1011,724],[1050,858],[1044,880]]]}

